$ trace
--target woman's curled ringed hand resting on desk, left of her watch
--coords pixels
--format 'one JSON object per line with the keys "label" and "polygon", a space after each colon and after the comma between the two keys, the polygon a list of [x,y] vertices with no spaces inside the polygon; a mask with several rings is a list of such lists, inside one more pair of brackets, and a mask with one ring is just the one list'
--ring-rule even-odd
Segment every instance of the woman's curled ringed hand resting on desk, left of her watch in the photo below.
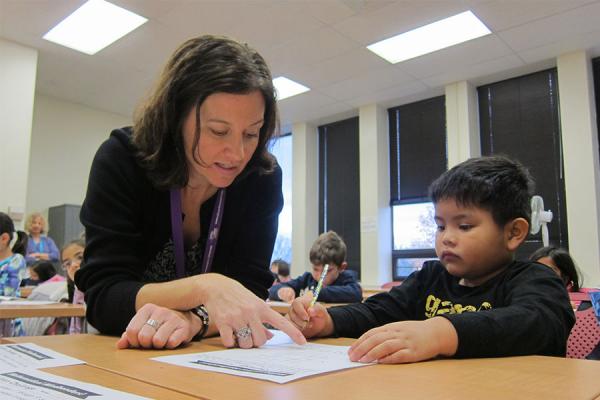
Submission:
{"label": "woman's curled ringed hand resting on desk, left of her watch", "polygon": [[174,349],[191,341],[200,328],[190,312],[146,304],[131,319],[117,347]]}

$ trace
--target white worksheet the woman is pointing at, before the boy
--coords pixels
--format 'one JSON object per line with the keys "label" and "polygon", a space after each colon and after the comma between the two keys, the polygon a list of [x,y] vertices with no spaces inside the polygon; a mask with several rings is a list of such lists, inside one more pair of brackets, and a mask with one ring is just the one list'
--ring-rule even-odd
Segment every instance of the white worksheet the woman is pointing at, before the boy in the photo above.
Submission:
{"label": "white worksheet the woman is pointing at, before the boy", "polygon": [[[278,337],[277,340],[281,340]],[[205,371],[286,383],[369,364],[351,362],[348,346],[308,343],[267,344],[254,349],[231,349],[207,353],[156,357],[153,360]]]}

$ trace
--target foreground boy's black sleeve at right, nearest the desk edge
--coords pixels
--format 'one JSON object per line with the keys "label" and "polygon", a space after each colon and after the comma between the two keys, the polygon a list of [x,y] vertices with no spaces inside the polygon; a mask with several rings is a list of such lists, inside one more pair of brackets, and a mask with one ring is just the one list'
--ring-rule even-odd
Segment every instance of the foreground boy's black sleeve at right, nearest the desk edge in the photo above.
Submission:
{"label": "foreground boy's black sleeve at right, nearest the desk edge", "polygon": [[503,307],[442,315],[458,333],[456,357],[564,357],[575,317],[556,274],[527,264],[507,280],[504,290]]}

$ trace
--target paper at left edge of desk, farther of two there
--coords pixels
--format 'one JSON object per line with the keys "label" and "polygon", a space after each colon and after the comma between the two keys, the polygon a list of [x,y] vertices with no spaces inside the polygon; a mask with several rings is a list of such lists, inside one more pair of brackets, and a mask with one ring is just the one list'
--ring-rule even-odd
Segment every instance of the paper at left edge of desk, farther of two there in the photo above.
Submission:
{"label": "paper at left edge of desk, farther of two there", "polygon": [[[0,368],[49,368],[85,364],[84,361],[66,356],[34,343],[0,345]],[[3,398],[0,396],[0,398]]]}

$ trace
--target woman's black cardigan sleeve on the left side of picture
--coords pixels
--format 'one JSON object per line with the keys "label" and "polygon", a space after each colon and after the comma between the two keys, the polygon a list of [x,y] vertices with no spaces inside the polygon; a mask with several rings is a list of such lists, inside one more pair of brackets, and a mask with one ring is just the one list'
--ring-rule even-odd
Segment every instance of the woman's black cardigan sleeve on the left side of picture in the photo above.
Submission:
{"label": "woman's black cardigan sleeve on the left side of picture", "polygon": [[142,183],[129,153],[114,136],[101,145],[80,214],[87,244],[75,282],[85,292],[88,321],[112,335],[120,335],[135,314],[143,286]]}

